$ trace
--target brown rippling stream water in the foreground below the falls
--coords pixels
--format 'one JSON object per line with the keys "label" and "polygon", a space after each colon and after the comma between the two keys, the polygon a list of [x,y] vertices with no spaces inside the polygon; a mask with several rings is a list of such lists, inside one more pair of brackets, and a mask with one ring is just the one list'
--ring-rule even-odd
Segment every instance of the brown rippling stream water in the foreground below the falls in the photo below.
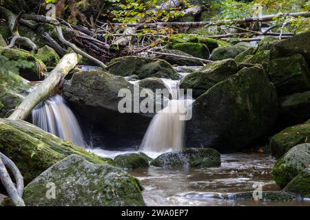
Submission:
{"label": "brown rippling stream water in the foreground below the falls", "polygon": [[221,156],[218,168],[128,170],[144,187],[147,206],[310,206],[310,201],[271,202],[223,199],[230,192],[280,190],[272,179],[276,162],[269,155],[235,153]]}

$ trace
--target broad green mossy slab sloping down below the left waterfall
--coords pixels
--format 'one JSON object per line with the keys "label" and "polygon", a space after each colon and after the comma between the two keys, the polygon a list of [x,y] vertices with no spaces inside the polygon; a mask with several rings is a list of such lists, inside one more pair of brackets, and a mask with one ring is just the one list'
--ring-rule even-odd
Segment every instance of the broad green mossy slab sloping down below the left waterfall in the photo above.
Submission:
{"label": "broad green mossy slab sloping down below the left waterfall", "polygon": [[111,162],[22,120],[0,119],[0,151],[17,164],[25,184],[70,154],[95,164]]}

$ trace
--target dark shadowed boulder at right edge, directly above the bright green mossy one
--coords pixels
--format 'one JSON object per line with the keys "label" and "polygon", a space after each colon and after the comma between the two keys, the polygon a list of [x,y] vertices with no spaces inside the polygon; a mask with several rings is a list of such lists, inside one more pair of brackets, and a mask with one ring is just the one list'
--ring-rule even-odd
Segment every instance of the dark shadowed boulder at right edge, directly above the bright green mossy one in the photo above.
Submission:
{"label": "dark shadowed boulder at right edge, directly above the bright green mossy one", "polygon": [[310,91],[279,98],[282,124],[300,124],[310,118]]}

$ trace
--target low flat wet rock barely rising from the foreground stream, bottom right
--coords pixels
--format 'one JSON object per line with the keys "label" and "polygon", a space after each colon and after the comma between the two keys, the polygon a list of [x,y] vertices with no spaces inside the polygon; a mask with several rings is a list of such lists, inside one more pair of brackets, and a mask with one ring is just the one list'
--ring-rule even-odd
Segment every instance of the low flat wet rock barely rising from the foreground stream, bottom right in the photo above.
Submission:
{"label": "low flat wet rock barely rising from the foreground stream, bottom right", "polygon": [[[229,199],[236,200],[253,200],[253,191],[249,192],[236,192],[228,196]],[[278,191],[262,191],[262,201],[296,201],[298,198],[289,192]]]}

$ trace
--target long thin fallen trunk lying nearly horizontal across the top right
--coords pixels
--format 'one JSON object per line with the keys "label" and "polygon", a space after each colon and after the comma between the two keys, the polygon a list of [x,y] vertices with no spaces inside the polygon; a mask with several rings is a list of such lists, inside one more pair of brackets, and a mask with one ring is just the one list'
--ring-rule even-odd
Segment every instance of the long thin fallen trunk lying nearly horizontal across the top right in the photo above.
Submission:
{"label": "long thin fallen trunk lying nearly horizontal across the top right", "polygon": [[[127,25],[128,27],[135,27],[137,25],[143,25],[146,28],[156,28],[157,26],[180,26],[197,28],[205,25],[225,25],[227,23],[251,23],[251,22],[266,22],[273,21],[274,17],[310,17],[310,12],[294,12],[294,13],[280,13],[280,14],[269,14],[260,17],[249,17],[245,19],[232,19],[232,20],[221,20],[221,21],[198,21],[198,22],[157,22],[157,23],[112,23],[112,25]],[[107,23],[102,23],[106,25]]]}

